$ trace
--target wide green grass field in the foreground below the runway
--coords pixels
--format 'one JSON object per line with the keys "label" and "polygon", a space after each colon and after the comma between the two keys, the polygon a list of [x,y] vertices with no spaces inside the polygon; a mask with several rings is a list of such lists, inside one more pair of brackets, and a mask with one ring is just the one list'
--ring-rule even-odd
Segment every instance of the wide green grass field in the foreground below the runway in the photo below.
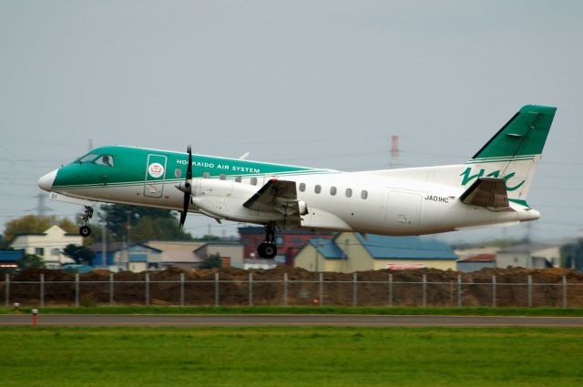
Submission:
{"label": "wide green grass field in the foreground below the runway", "polygon": [[581,386],[583,330],[0,328],[8,386]]}

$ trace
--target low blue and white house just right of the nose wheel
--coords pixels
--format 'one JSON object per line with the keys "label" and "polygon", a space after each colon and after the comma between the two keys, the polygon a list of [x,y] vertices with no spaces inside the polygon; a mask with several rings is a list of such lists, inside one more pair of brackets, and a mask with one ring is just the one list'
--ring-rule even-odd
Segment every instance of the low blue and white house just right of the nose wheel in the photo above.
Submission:
{"label": "low blue and white house just right of the nose wheel", "polygon": [[95,243],[89,246],[89,249],[95,253],[91,262],[94,267],[111,271],[129,270],[134,272],[161,268],[162,251],[142,243],[134,243],[129,248],[124,242],[109,243],[105,246],[105,255],[101,243]]}

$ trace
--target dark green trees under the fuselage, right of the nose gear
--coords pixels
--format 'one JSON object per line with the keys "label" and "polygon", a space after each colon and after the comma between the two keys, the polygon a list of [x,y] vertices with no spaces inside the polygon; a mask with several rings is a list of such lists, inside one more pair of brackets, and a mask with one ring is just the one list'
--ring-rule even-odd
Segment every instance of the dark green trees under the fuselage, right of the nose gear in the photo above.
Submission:
{"label": "dark green trees under the fuselage, right of the nose gear", "polygon": [[169,209],[148,209],[119,204],[101,206],[99,215],[106,222],[107,231],[113,239],[122,240],[128,236],[128,219],[131,224],[132,242],[150,239],[189,240],[189,233],[179,228],[177,213]]}

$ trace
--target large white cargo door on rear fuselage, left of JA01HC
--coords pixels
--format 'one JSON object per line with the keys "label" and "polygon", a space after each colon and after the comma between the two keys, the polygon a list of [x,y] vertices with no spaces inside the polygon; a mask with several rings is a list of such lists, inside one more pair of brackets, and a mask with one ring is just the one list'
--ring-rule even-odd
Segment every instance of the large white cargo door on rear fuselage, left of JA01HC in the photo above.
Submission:
{"label": "large white cargo door on rear fuselage, left of JA01HC", "polygon": [[421,219],[421,195],[413,192],[389,191],[385,220],[391,226],[418,227]]}

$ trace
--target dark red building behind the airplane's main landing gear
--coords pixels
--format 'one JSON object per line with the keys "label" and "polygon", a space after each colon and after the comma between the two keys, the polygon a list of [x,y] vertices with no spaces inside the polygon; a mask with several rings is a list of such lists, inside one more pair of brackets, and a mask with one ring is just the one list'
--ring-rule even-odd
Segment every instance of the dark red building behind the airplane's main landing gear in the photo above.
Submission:
{"label": "dark red building behind the airplane's main landing gear", "polygon": [[[257,246],[265,239],[263,227],[240,227],[240,243],[243,245],[243,258],[255,261],[257,258]],[[293,266],[293,259],[302,247],[313,238],[332,239],[329,232],[314,233],[305,229],[288,229],[278,232],[275,236],[278,255],[271,260],[277,263],[285,263]]]}

